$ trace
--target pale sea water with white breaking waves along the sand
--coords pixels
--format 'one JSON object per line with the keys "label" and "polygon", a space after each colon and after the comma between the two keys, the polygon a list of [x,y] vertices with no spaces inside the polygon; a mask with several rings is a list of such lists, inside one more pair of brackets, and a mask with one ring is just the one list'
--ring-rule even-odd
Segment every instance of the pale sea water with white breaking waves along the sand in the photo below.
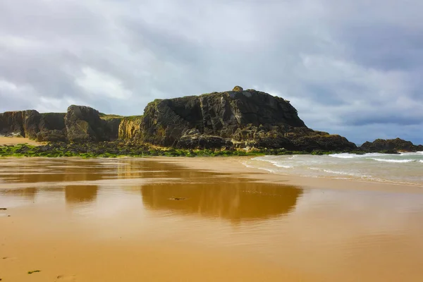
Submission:
{"label": "pale sea water with white breaking waves along the sand", "polygon": [[264,156],[245,166],[272,173],[423,186],[423,152]]}

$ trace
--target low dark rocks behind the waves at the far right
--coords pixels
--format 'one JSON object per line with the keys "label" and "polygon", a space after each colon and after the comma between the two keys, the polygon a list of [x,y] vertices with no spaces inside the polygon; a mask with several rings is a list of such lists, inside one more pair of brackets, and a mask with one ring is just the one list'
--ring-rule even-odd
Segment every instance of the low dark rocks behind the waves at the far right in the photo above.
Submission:
{"label": "low dark rocks behind the waves at the far right", "polygon": [[417,152],[423,151],[422,145],[414,145],[410,141],[405,141],[400,138],[396,139],[376,139],[373,142],[365,142],[360,149],[364,152],[381,152],[381,151],[403,151],[403,152]]}

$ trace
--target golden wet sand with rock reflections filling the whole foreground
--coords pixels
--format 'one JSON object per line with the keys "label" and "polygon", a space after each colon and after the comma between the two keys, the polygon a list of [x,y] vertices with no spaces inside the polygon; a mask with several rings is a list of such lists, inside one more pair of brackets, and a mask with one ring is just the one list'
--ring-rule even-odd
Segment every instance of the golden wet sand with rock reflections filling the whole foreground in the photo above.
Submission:
{"label": "golden wet sand with rock reflections filling the whole foreground", "polygon": [[417,188],[298,185],[242,161],[0,159],[0,278],[423,280]]}

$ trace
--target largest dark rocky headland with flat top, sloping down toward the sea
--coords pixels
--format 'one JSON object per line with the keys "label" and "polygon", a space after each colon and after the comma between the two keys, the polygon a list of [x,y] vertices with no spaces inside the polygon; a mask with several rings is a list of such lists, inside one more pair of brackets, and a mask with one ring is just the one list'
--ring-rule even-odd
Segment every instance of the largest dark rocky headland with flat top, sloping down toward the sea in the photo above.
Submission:
{"label": "largest dark rocky headland with flat top, sloping down toward the sea", "polygon": [[242,87],[234,90],[149,103],[140,140],[182,148],[356,149],[345,137],[307,128],[285,99]]}

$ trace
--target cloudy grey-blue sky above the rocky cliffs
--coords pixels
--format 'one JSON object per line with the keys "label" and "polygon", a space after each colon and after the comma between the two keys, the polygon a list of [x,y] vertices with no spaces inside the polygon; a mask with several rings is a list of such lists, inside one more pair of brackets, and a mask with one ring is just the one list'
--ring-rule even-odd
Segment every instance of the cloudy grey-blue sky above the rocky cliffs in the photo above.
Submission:
{"label": "cloudy grey-blue sky above the rocky cliffs", "polygon": [[232,90],[358,144],[423,143],[421,0],[1,0],[0,112]]}

